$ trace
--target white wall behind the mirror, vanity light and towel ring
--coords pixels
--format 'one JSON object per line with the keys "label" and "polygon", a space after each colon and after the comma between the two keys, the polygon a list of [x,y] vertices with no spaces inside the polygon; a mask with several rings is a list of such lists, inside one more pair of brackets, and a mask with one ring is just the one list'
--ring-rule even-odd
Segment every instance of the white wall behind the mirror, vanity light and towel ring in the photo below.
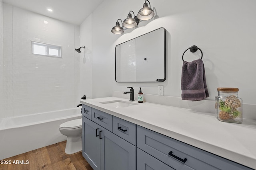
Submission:
{"label": "white wall behind the mirror, vanity light and towel ring", "polygon": [[[111,33],[118,18],[124,20],[130,10],[137,14],[144,1],[105,0],[92,13],[92,97],[111,96],[112,90],[157,94],[164,85],[165,96],[181,96],[182,54],[192,45],[203,51],[206,82],[210,98],[218,87],[237,87],[244,103],[256,104],[256,1],[255,0],[150,0],[156,16],[122,35]],[[118,7],[118,8],[117,8]],[[124,41],[164,27],[167,31],[167,78],[161,83],[115,82],[115,46]],[[185,53],[192,61],[200,52]]]}

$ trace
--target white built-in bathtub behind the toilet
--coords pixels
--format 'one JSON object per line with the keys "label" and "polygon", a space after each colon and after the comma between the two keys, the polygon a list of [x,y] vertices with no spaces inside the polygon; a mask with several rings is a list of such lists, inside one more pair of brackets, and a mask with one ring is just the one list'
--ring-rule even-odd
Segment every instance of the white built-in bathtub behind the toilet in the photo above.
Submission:
{"label": "white built-in bathtub behind the toilet", "polygon": [[65,141],[59,125],[80,118],[81,106],[0,119],[0,160]]}

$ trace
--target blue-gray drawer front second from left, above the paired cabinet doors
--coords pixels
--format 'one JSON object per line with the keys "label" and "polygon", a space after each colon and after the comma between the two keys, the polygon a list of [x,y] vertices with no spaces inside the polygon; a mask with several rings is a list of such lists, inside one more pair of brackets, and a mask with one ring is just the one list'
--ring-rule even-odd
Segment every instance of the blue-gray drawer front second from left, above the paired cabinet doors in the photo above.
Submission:
{"label": "blue-gray drawer front second from left, above the paired cabinet doors", "polygon": [[92,108],[92,121],[112,132],[113,116],[103,111]]}

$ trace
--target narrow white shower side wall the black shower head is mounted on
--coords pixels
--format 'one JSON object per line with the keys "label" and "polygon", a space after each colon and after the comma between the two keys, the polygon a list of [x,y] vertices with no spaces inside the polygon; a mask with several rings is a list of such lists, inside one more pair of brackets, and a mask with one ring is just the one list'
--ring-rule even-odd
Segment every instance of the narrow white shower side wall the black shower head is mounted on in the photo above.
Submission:
{"label": "narrow white shower side wall the black shower head is mounted on", "polygon": [[[80,98],[92,98],[92,14],[80,25]],[[77,47],[78,48],[78,47]]]}

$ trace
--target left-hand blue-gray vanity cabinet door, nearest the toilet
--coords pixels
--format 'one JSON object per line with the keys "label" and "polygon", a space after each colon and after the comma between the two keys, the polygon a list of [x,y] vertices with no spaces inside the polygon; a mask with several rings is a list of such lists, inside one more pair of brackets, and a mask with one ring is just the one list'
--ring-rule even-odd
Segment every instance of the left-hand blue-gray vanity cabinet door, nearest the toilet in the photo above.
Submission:
{"label": "left-hand blue-gray vanity cabinet door, nearest the toilet", "polygon": [[100,126],[83,116],[82,154],[94,170],[100,170]]}

